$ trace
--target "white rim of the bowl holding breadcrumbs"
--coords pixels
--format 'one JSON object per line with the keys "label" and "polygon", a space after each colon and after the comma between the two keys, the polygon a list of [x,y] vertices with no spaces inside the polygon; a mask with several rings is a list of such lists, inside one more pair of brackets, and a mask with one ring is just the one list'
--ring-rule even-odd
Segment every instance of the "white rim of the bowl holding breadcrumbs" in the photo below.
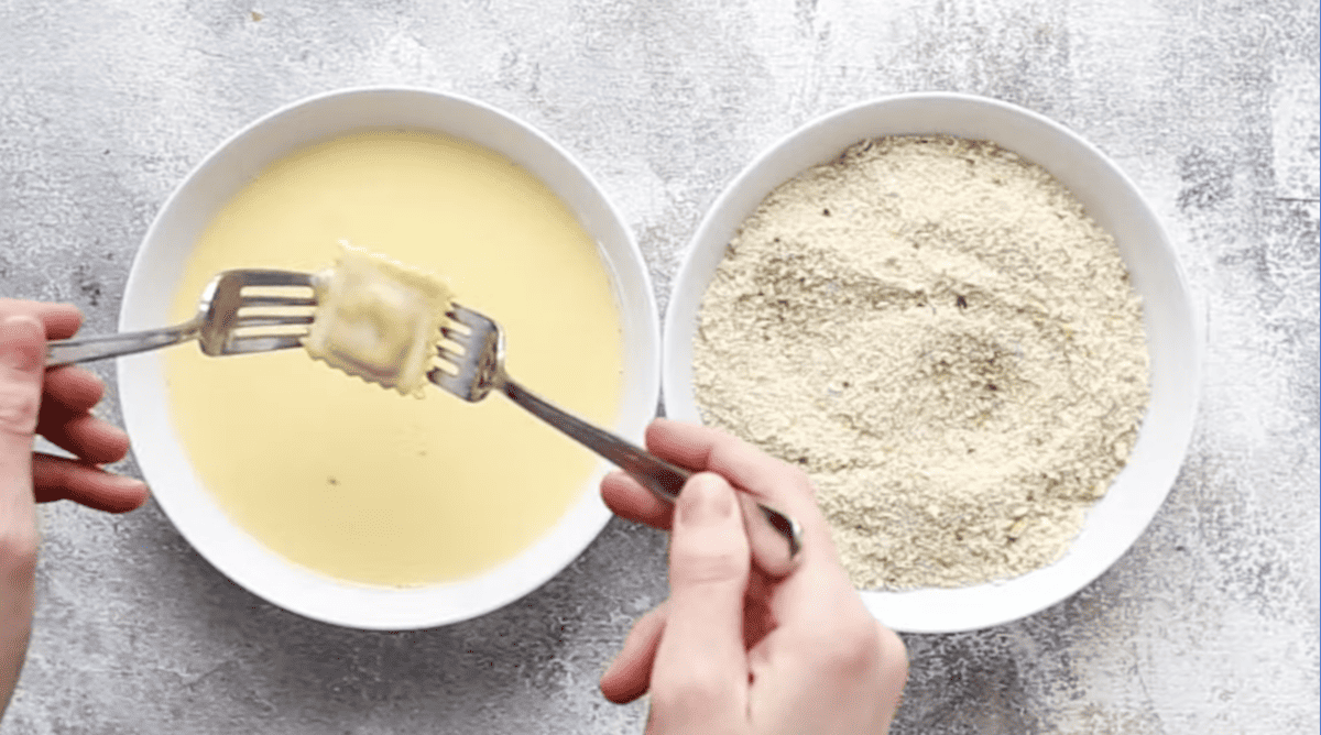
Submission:
{"label": "white rim of the bowl holding breadcrumbs", "polygon": [[[1169,288],[1169,310],[1162,314],[1152,314],[1147,307],[1148,294],[1144,297],[1144,322],[1151,334],[1152,321],[1161,322],[1161,329],[1176,335],[1181,343],[1177,347],[1157,346],[1156,339],[1149,339],[1152,350],[1152,405],[1144,418],[1139,441],[1133,447],[1129,466],[1120,472],[1107,494],[1089,513],[1087,525],[1075,541],[1070,552],[1055,563],[1032,571],[1015,579],[992,582],[962,589],[922,589],[909,591],[876,591],[861,590],[863,600],[868,610],[884,624],[902,632],[913,633],[947,633],[959,631],[972,631],[988,628],[1018,620],[1028,615],[1040,612],[1059,602],[1073,596],[1107,569],[1110,569],[1127,550],[1136,542],[1137,537],[1155,519],[1165,497],[1168,496],[1184,457],[1192,441],[1193,426],[1197,414],[1197,404],[1201,392],[1201,358],[1203,351],[1203,335],[1201,334],[1201,319],[1197,318],[1197,307],[1188,290],[1188,280],[1173,245],[1161,226],[1156,212],[1141,195],[1136,185],[1124,172],[1114,164],[1104,153],[1063,125],[1022,107],[979,95],[962,92],[910,92],[897,94],[876,99],[859,102],[856,104],[826,113],[814,120],[797,127],[786,133],[768,149],[749,162],[721,191],[715,203],[707,210],[699,223],[694,236],[684,251],[679,271],[671,288],[668,307],[663,319],[663,364],[662,364],[662,401],[666,416],[683,421],[700,422],[701,416],[696,409],[691,385],[691,338],[696,309],[700,305],[701,294],[713,274],[715,265],[719,264],[724,252],[720,240],[728,243],[748,214],[761,202],[765,195],[803,170],[832,160],[839,152],[852,143],[865,137],[882,135],[955,135],[959,137],[982,137],[996,140],[992,136],[963,135],[959,132],[968,123],[960,121],[941,123],[926,129],[877,129],[875,120],[885,115],[914,115],[914,110],[927,108],[927,115],[933,110],[945,112],[958,111],[962,115],[980,116],[996,120],[1008,120],[1007,125],[1017,125],[1016,136],[1042,136],[1050,145],[1063,146],[1074,152],[1094,168],[1092,173],[1103,176],[1104,185],[1111,193],[1123,198],[1123,206],[1128,207],[1131,215],[1140,222],[1133,224],[1145,230],[1148,238],[1143,245],[1123,241],[1116,235],[1122,256],[1129,268],[1135,288],[1143,281],[1141,274],[1133,272],[1132,257],[1137,248],[1147,248],[1153,253],[1161,269],[1160,280]],[[789,166],[787,176],[781,169],[786,169],[787,160],[794,157],[795,145],[811,141],[815,136],[841,135],[841,131],[856,127],[859,120],[867,120],[865,125],[871,133],[857,135],[853,139],[831,139],[831,145],[822,143],[811,156],[798,156],[797,166]],[[847,137],[847,136],[845,136]],[[1025,160],[1042,165],[1087,205],[1089,212],[1096,216],[1107,230],[1112,223],[1106,222],[1094,211],[1096,202],[1083,197],[1078,182],[1070,181],[1077,172],[1061,172],[1048,161],[1041,161],[1028,152],[1018,150],[1020,145],[996,140],[1001,146],[1020,153]],[[838,145],[836,145],[838,144]],[[803,144],[810,145],[810,144]],[[804,162],[806,161],[806,162]],[[775,172],[775,176],[768,176]],[[771,181],[756,183],[758,177]],[[750,191],[750,193],[749,193]],[[756,195],[753,195],[756,194]],[[750,205],[749,205],[750,201]],[[740,206],[738,215],[729,214],[731,207]],[[733,224],[731,226],[731,222]],[[713,240],[720,238],[720,240]],[[720,255],[713,253],[719,249]],[[1139,289],[1141,290],[1141,289]],[[1164,334],[1164,333],[1160,333]],[[1160,336],[1157,334],[1156,336]],[[1157,347],[1160,347],[1160,364],[1177,368],[1178,379],[1170,384],[1170,376],[1161,375],[1160,402],[1157,404]],[[1160,409],[1157,416],[1156,409]],[[1160,421],[1157,422],[1156,418]],[[1157,425],[1159,424],[1159,425]],[[1139,478],[1137,463],[1141,462]],[[1139,487],[1139,484],[1141,487]],[[1122,497],[1119,492],[1122,492]],[[1102,520],[1098,520],[1102,519]],[[1094,524],[1114,523],[1118,530],[1107,538],[1098,538]],[[1098,546],[1096,553],[1087,553],[1078,549],[1083,544]]]}

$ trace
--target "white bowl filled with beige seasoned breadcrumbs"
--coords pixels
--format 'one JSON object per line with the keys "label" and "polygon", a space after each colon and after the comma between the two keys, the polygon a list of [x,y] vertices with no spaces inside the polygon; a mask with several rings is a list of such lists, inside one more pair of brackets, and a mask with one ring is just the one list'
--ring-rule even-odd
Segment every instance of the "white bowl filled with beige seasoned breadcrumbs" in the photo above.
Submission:
{"label": "white bowl filled with beige seasoned breadcrumbs", "polygon": [[667,416],[801,467],[873,615],[1016,620],[1160,509],[1201,336],[1169,239],[1030,111],[901,95],[820,117],[720,195],[664,325]]}

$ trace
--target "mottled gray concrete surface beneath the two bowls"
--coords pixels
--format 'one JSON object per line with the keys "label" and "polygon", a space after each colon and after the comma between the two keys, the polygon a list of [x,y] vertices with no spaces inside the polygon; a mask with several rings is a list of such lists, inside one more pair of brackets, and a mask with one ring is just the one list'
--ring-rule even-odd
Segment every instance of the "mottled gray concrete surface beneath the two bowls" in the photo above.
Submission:
{"label": "mottled gray concrete surface beneath the two bowls", "polygon": [[[1310,0],[8,0],[0,290],[111,330],[189,168],[342,86],[461,92],[546,131],[618,203],[662,304],[720,187],[798,124],[915,90],[1026,106],[1114,157],[1169,227],[1205,317],[1198,429],[1152,528],[1094,585],[1015,624],[908,636],[894,732],[1316,732],[1317,30]],[[596,678],[666,594],[649,530],[612,523],[528,598],[387,635],[272,608],[153,505],[42,520],[3,735],[645,723]]]}

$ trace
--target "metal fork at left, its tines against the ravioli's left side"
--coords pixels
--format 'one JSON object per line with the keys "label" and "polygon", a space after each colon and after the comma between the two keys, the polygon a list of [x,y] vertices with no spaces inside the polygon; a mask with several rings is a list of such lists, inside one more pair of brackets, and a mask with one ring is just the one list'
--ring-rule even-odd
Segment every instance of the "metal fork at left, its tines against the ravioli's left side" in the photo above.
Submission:
{"label": "metal fork at left, its tines against the ravioli's left side", "polygon": [[[296,271],[225,271],[202,290],[197,315],[182,325],[52,342],[46,350],[46,367],[132,355],[190,339],[197,339],[202,352],[211,356],[300,347],[303,335],[289,331],[289,327],[310,325],[313,313],[289,311],[292,307],[316,306],[313,278],[312,273]],[[297,288],[297,292],[251,292],[254,288],[285,286]],[[244,289],[250,289],[248,293]]]}

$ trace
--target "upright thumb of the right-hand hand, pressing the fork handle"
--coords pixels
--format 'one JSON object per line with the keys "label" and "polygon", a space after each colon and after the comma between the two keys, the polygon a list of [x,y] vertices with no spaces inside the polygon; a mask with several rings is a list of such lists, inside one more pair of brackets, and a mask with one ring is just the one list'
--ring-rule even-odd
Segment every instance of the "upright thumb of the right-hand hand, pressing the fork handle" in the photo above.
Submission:
{"label": "upright thumb of the right-hand hand, pressing the fork handle", "polygon": [[745,723],[750,566],[734,490],[719,475],[695,475],[675,508],[670,610],[651,670],[651,722],[659,731],[728,732]]}

